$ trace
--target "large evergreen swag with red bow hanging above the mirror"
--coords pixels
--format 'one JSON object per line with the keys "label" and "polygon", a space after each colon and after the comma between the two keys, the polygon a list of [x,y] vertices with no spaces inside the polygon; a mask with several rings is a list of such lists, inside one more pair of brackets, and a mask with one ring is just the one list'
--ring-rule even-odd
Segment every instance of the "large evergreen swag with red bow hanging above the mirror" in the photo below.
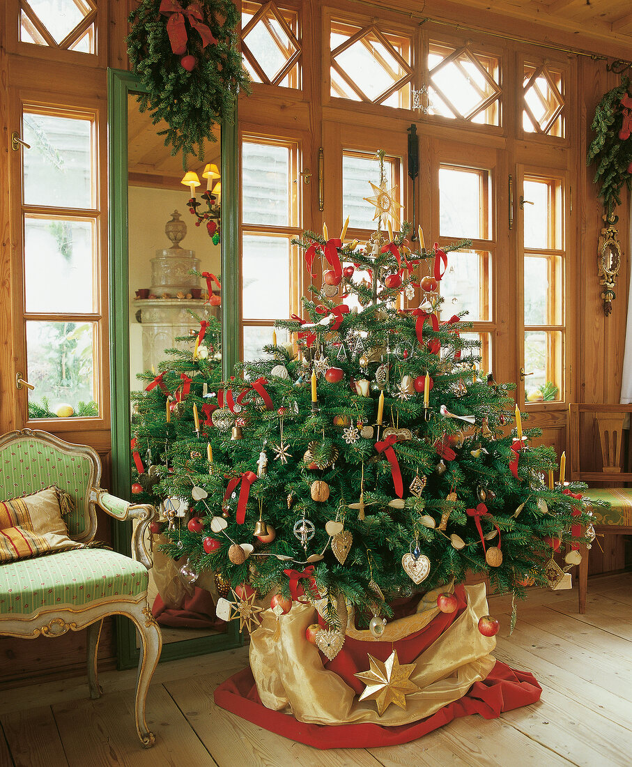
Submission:
{"label": "large evergreen swag with red bow hanging above the mirror", "polygon": [[[159,131],[172,154],[182,151],[204,160],[205,140],[214,141],[214,123],[232,120],[239,91],[250,93],[249,79],[241,64],[235,28],[239,15],[231,0],[182,0],[182,8],[197,6],[203,23],[216,38],[202,48],[195,26],[184,22],[187,31],[185,53],[195,57],[187,71],[182,53],[174,53],[167,33],[168,16],[160,12],[161,0],[142,0],[129,15],[127,53],[132,71],[140,77],[148,93],[139,94],[141,112],[150,110],[152,123],[165,120],[169,126]],[[196,149],[197,147],[197,149]]]}

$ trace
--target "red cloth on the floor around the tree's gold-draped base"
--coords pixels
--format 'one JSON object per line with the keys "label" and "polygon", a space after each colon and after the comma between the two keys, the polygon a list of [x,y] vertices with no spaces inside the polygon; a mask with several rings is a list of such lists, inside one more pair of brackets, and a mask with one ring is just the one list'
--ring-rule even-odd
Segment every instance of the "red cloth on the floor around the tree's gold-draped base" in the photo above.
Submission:
{"label": "red cloth on the floor around the tree's gold-draped base", "polygon": [[496,719],[503,711],[535,703],[541,693],[542,688],[531,673],[513,670],[497,660],[486,680],[474,683],[460,700],[449,703],[426,719],[398,727],[366,723],[325,726],[297,722],[293,716],[267,709],[260,703],[250,668],[234,674],[218,686],[214,700],[218,706],[242,719],[307,746],[317,749],[365,749],[417,740],[457,716],[480,714],[485,719]]}

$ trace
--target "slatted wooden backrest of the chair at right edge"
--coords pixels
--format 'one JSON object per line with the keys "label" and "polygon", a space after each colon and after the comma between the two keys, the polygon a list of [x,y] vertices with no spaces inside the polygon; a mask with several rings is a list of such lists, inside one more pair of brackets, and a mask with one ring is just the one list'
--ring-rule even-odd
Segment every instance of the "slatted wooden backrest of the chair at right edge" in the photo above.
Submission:
{"label": "slatted wooden backrest of the chair at right edge", "polygon": [[632,405],[571,404],[568,407],[568,479],[580,482],[632,482],[624,459]]}

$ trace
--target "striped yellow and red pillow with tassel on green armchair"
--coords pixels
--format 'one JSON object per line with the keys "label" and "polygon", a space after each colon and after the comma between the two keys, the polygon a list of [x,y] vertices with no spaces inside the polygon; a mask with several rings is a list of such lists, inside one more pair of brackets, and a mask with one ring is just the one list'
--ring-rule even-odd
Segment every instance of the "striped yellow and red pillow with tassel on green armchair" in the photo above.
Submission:
{"label": "striped yellow and red pillow with tassel on green armchair", "polygon": [[56,487],[0,501],[0,565],[71,548],[83,544],[68,538]]}

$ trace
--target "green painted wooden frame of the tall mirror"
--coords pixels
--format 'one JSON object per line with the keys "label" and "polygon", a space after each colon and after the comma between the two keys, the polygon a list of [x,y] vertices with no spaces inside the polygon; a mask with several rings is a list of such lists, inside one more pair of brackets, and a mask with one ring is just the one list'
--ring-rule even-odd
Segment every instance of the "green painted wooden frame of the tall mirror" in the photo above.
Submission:
{"label": "green painted wooden frame of the tall mirror", "polygon": [[[112,492],[129,499],[131,486],[131,439],[129,410],[129,265],[127,193],[127,103],[130,93],[144,89],[131,72],[109,69],[108,166],[110,242],[110,391],[112,398]],[[237,114],[233,123],[221,125],[221,329],[222,370],[228,379],[239,356],[239,264],[237,256]],[[131,555],[130,524],[113,525],[116,551]],[[228,624],[225,634],[171,642],[162,646],[160,660],[201,655],[241,644],[237,625]],[[138,663],[136,630],[131,621],[116,618],[116,642],[120,668]]]}

